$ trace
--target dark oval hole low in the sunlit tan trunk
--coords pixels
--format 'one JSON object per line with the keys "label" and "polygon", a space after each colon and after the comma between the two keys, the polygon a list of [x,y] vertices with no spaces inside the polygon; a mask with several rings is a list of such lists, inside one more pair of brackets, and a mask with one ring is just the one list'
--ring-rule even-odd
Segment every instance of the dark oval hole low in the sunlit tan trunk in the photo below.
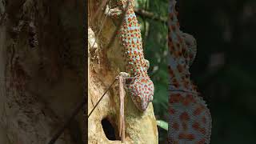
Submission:
{"label": "dark oval hole low in the sunlit tan trunk", "polygon": [[112,124],[107,118],[102,119],[102,127],[104,130],[104,133],[106,134],[106,138],[108,138],[111,141],[120,140],[116,138],[116,135],[114,133],[114,126],[112,126]]}

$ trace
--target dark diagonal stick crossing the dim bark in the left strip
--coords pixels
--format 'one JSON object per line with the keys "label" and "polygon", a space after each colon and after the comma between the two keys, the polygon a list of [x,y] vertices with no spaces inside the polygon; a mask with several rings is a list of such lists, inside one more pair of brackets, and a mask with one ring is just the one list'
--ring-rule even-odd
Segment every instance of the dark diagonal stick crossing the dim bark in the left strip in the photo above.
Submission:
{"label": "dark diagonal stick crossing the dim bark in the left strip", "polygon": [[74,112],[71,114],[70,118],[64,123],[64,126],[62,126],[61,129],[58,130],[56,134],[54,134],[54,137],[50,140],[48,144],[54,144],[58,137],[62,134],[62,132],[66,129],[67,126],[70,125],[70,122],[72,119],[78,114],[80,110],[82,110],[82,106],[86,105],[86,100],[84,99],[82,103],[74,110]]}

